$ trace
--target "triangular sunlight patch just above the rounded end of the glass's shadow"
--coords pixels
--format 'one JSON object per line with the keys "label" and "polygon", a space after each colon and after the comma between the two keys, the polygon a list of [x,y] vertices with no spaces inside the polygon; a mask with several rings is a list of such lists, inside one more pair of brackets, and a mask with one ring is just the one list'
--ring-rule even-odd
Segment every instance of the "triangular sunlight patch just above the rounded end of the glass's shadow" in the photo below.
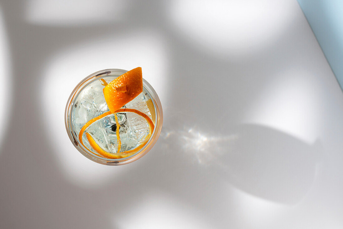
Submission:
{"label": "triangular sunlight patch just above the rounded end of the glass's shadow", "polygon": [[320,102],[320,88],[310,73],[283,72],[266,85],[245,121],[270,126],[312,144],[319,134]]}

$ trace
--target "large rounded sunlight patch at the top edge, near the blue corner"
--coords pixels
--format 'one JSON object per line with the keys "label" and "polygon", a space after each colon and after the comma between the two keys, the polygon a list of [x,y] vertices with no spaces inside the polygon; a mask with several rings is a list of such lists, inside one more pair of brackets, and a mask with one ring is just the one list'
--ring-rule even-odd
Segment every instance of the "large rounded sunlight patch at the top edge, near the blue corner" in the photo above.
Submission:
{"label": "large rounded sunlight patch at the top edge, near the blue corner", "polygon": [[296,1],[288,0],[176,0],[168,14],[191,45],[216,55],[240,56],[282,35],[293,21],[294,8],[299,8]]}

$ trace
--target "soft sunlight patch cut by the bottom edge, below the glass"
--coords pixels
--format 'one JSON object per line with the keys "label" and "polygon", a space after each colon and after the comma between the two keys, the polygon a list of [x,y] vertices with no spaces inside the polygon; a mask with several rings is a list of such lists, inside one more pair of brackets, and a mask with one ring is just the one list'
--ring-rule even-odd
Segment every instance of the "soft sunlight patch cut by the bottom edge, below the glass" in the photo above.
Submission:
{"label": "soft sunlight patch cut by the bottom edge, below the glass", "polygon": [[142,202],[131,206],[127,213],[113,213],[114,225],[122,229],[188,229],[211,228],[206,218],[192,208],[162,192],[151,192]]}

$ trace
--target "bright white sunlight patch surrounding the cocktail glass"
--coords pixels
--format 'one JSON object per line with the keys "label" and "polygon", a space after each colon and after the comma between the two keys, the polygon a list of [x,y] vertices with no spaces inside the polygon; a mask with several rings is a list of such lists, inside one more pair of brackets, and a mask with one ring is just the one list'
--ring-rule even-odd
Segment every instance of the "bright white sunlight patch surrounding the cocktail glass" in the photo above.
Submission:
{"label": "bright white sunlight patch surrounding the cocktail glass", "polygon": [[71,144],[64,126],[64,109],[76,84],[91,73],[106,68],[130,70],[141,66],[143,78],[161,95],[167,93],[166,54],[158,36],[153,33],[125,34],[82,43],[54,55],[43,73],[42,110],[47,133],[52,133],[51,147],[62,171],[73,183],[93,187],[119,176],[128,166],[112,168],[85,158]]}

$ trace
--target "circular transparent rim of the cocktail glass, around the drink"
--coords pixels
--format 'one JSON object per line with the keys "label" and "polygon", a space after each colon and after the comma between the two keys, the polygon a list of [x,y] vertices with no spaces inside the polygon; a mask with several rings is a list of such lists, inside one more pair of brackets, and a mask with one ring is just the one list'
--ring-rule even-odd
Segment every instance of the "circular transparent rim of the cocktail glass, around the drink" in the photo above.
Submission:
{"label": "circular transparent rim of the cocktail glass, around the drink", "polygon": [[[157,93],[155,92],[155,90],[153,89],[153,87],[143,78],[143,89],[149,94],[154,108],[155,108],[155,127],[153,130],[153,133],[149,139],[149,141],[146,143],[146,145],[140,149],[138,152],[132,154],[129,157],[125,157],[125,158],[119,158],[119,159],[107,159],[107,158],[103,158],[100,157],[98,155],[96,155],[95,153],[87,150],[86,148],[84,148],[81,144],[80,141],[78,139],[78,134],[72,133],[73,132],[73,128],[71,125],[71,110],[72,110],[72,106],[74,105],[74,100],[75,98],[77,98],[78,94],[80,93],[80,91],[82,91],[91,81],[93,81],[94,79],[96,79],[97,77],[104,77],[104,76],[121,76],[122,74],[124,74],[125,72],[127,72],[127,70],[123,70],[123,69],[104,69],[104,70],[100,70],[97,72],[92,73],[91,75],[85,77],[83,80],[81,80],[76,87],[74,88],[74,90],[71,92],[68,102],[66,104],[66,109],[64,112],[64,122],[66,125],[66,130],[69,136],[70,141],[72,142],[72,144],[74,145],[74,147],[81,153],[83,154],[83,156],[85,156],[86,158],[95,161],[97,163],[100,164],[105,164],[105,165],[121,165],[121,164],[127,164],[130,162],[133,162],[135,160],[138,160],[139,158],[143,157],[147,152],[149,152],[151,150],[151,148],[155,145],[158,136],[161,133],[161,129],[162,129],[162,123],[163,123],[163,112],[162,112],[162,104],[161,101],[158,98]],[[117,77],[118,77],[117,76]]]}

